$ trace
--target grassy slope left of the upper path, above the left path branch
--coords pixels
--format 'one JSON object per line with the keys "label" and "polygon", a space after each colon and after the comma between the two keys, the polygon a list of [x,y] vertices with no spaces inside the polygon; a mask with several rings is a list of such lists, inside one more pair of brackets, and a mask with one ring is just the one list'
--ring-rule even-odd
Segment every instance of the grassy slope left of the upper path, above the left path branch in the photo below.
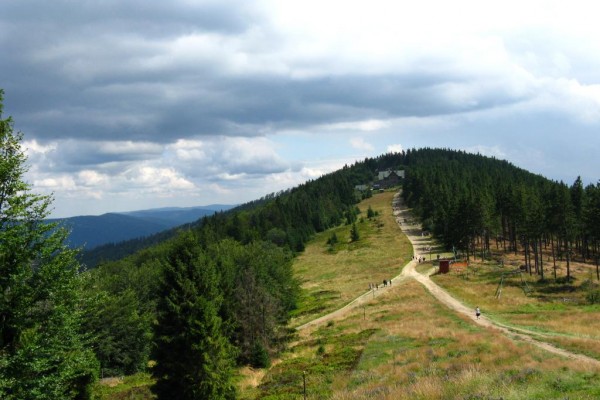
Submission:
{"label": "grassy slope left of the upper path, above the left path branch", "polygon": [[[412,247],[398,235],[392,215],[393,195],[385,192],[360,203],[356,226],[362,239],[350,243],[350,225],[331,229],[316,235],[295,260],[304,290],[293,326],[342,307],[368,291],[369,283],[382,284],[398,275],[410,260]],[[372,219],[366,217],[369,206],[377,213]],[[338,244],[330,248],[327,239],[333,233]]]}

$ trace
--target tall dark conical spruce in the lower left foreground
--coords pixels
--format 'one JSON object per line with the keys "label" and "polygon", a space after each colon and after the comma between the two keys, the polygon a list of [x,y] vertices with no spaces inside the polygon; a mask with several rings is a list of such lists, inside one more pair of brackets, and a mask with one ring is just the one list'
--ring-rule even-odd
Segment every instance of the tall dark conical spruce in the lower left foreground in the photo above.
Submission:
{"label": "tall dark conical spruce in the lower left foreground", "polygon": [[159,399],[233,399],[233,347],[223,332],[214,262],[184,233],[167,256],[154,327]]}

